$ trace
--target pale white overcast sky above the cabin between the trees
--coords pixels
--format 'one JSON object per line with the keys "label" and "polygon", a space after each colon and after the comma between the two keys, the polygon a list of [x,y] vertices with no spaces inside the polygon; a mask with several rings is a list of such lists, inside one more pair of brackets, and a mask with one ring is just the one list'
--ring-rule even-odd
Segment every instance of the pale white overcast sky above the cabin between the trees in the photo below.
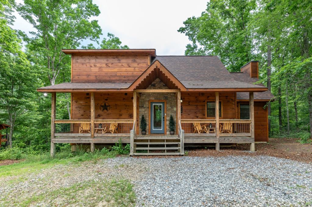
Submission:
{"label": "pale white overcast sky above the cabin between the trees", "polygon": [[[16,2],[22,2],[17,0]],[[200,16],[205,11],[207,0],[93,0],[101,14],[99,21],[102,33],[115,34],[122,44],[130,48],[155,48],[157,55],[184,55],[190,43],[185,34],[177,30],[191,16]],[[15,13],[14,29],[24,32],[33,30],[18,13]],[[100,41],[103,39],[101,37]],[[90,42],[85,41],[87,45]]]}

